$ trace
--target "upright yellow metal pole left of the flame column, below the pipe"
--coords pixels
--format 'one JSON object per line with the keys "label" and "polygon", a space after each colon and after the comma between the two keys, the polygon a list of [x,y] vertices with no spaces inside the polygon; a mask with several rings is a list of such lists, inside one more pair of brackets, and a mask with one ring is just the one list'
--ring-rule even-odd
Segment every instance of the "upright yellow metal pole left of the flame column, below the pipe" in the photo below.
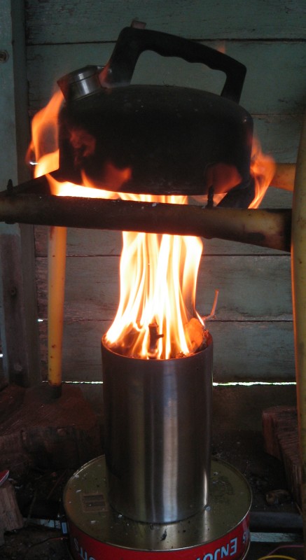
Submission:
{"label": "upright yellow metal pole left of the flame column, below the pipe", "polygon": [[53,396],[62,391],[62,336],[67,228],[51,226],[48,238],[48,382]]}

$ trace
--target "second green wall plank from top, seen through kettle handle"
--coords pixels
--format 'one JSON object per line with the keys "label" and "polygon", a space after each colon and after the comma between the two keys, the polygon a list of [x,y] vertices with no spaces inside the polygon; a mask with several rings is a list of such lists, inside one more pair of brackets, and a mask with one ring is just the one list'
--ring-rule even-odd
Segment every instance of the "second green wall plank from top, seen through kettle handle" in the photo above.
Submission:
{"label": "second green wall plank from top, seen through kettle handle", "polygon": [[[306,48],[302,41],[228,41],[214,43],[248,69],[241,104],[253,115],[301,115],[306,105],[304,69]],[[29,103],[36,111],[45,105],[56,80],[86,64],[106,64],[113,45],[46,45],[27,48]],[[134,83],[195,87],[219,94],[224,75],[202,64],[188,64],[144,52],[134,72]]]}

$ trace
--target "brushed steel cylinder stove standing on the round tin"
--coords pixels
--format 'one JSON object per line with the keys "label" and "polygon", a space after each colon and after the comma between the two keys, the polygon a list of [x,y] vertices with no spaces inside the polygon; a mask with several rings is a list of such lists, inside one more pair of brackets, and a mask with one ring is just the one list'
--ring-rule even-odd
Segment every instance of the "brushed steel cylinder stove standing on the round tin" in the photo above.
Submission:
{"label": "brushed steel cylinder stove standing on the round tin", "polygon": [[212,339],[187,358],[141,360],[102,340],[109,501],[147,523],[190,517],[207,505]]}

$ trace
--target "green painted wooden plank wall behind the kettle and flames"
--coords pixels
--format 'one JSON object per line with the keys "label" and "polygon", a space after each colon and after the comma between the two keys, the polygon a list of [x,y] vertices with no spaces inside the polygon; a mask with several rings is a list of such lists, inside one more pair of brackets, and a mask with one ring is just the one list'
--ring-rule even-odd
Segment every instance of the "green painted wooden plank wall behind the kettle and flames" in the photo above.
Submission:
{"label": "green painted wooden plank wall behind the kettle and flames", "polygon": [[[201,41],[246,64],[241,104],[253,115],[263,151],[296,159],[305,110],[303,0],[29,0],[27,75],[34,114],[55,82],[85,64],[105,64],[120,29],[134,18],[148,29]],[[221,91],[221,73],[145,52],[134,83]],[[291,194],[270,188],[262,207],[291,207]],[[118,304],[120,233],[69,230],[64,379],[102,379],[99,341]],[[294,380],[290,256],[211,240],[204,244],[197,309],[210,311],[220,290],[214,337],[215,381]],[[36,228],[36,276],[42,372],[46,374],[46,228]]]}

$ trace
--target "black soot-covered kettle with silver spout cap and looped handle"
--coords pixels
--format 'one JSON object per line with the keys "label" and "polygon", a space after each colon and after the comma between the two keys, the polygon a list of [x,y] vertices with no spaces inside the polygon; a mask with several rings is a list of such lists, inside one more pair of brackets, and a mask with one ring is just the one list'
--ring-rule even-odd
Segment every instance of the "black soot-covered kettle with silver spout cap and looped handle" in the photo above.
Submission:
{"label": "black soot-covered kettle with silver spout cap and looped handle", "polygon": [[[221,95],[168,85],[131,85],[141,52],[202,62],[224,71]],[[206,45],[126,27],[106,66],[58,81],[60,181],[126,193],[228,193],[221,204],[247,207],[253,121],[239,106],[246,68]]]}

